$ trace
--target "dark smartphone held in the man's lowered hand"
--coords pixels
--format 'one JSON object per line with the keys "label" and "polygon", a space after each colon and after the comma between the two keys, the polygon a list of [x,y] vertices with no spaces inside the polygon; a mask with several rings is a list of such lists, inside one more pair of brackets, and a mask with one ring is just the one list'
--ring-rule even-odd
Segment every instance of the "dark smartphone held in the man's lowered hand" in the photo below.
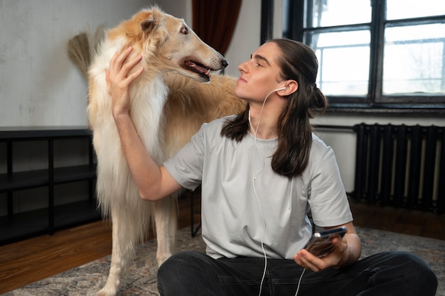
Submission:
{"label": "dark smartphone held in the man's lowered hand", "polygon": [[324,257],[333,251],[333,244],[331,239],[334,236],[345,236],[348,229],[346,227],[339,227],[334,229],[328,229],[326,231],[320,231],[312,234],[311,239],[306,243],[307,251],[311,252],[317,257]]}

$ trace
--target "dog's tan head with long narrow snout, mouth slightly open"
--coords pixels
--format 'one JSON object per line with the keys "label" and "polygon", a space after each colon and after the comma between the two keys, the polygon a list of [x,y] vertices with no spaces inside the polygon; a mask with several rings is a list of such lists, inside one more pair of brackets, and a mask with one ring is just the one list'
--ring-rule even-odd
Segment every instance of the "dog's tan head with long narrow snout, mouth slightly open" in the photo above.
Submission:
{"label": "dog's tan head with long narrow snout, mouth slightly open", "polygon": [[136,13],[119,26],[128,45],[140,53],[146,68],[159,72],[176,72],[199,82],[210,81],[210,72],[223,70],[228,62],[218,51],[200,40],[179,18],[156,6]]}

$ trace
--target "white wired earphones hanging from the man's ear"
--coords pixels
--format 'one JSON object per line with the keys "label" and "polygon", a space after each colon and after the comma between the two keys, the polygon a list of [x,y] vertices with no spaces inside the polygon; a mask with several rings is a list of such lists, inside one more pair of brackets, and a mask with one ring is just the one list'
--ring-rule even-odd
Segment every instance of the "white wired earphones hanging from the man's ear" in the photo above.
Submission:
{"label": "white wired earphones hanging from the man's ear", "polygon": [[[280,90],[284,90],[286,88],[287,87],[280,87],[278,89],[272,90],[271,92],[269,92],[269,94],[267,94],[267,96],[264,98],[263,104],[261,106],[261,111],[259,111],[258,124],[257,124],[256,128],[254,128],[254,126],[252,125],[252,121],[250,119],[250,110],[249,110],[249,125],[252,128],[252,131],[254,132],[253,136],[254,136],[254,144],[255,144],[255,148],[256,148],[254,150],[254,154],[253,154],[253,160],[254,161],[252,163],[252,187],[253,187],[253,190],[254,190],[254,193],[255,193],[255,197],[257,197],[257,202],[258,202],[258,206],[259,206],[259,212],[260,212],[260,214],[262,216],[262,219],[264,221],[264,229],[263,229],[263,232],[262,232],[262,235],[261,235],[261,248],[262,248],[263,255],[264,255],[264,271],[263,271],[263,275],[262,275],[262,278],[261,278],[261,283],[259,283],[259,293],[258,293],[258,296],[261,295],[262,285],[263,285],[264,278],[266,276],[266,271],[267,271],[267,255],[266,255],[266,251],[264,250],[264,234],[266,232],[267,224],[266,224],[266,219],[264,219],[264,214],[262,212],[261,202],[259,202],[259,197],[258,197],[258,194],[257,194],[257,190],[255,189],[256,175],[257,175],[258,172],[261,172],[262,169],[264,168],[264,161],[263,161],[262,168],[260,168],[257,172],[255,172],[255,157],[257,156],[257,150],[259,150],[258,146],[257,146],[257,132],[258,132],[258,128],[259,128],[259,123],[261,122],[261,116],[262,116],[262,112],[263,112],[263,109],[264,109],[264,104],[266,104],[267,98],[269,97],[270,94],[272,94],[272,92],[279,92]],[[264,160],[264,155],[263,155],[263,160]],[[303,275],[304,275],[305,271],[306,271],[306,268],[304,268],[303,272],[300,275],[299,283],[298,283],[298,286],[296,287],[296,292],[295,292],[294,296],[298,295],[298,292],[300,290],[301,278],[303,278]]]}

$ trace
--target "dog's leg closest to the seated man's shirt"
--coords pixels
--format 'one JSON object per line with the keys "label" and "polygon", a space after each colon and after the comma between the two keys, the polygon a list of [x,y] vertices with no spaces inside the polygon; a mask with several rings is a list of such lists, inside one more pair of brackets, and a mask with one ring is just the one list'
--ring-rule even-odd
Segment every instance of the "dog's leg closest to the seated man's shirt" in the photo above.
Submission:
{"label": "dog's leg closest to the seated man's shirt", "polygon": [[176,230],[178,228],[178,194],[154,202],[154,220],[158,250],[156,260],[158,265],[170,257],[176,249]]}

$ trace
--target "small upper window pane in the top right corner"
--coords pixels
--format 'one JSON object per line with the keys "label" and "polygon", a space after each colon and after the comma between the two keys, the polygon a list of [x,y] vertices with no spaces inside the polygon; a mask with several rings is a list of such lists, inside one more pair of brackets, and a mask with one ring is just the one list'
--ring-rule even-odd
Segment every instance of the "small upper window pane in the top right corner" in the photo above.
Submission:
{"label": "small upper window pane in the top right corner", "polygon": [[445,14],[444,0],[387,0],[386,18],[418,18]]}

